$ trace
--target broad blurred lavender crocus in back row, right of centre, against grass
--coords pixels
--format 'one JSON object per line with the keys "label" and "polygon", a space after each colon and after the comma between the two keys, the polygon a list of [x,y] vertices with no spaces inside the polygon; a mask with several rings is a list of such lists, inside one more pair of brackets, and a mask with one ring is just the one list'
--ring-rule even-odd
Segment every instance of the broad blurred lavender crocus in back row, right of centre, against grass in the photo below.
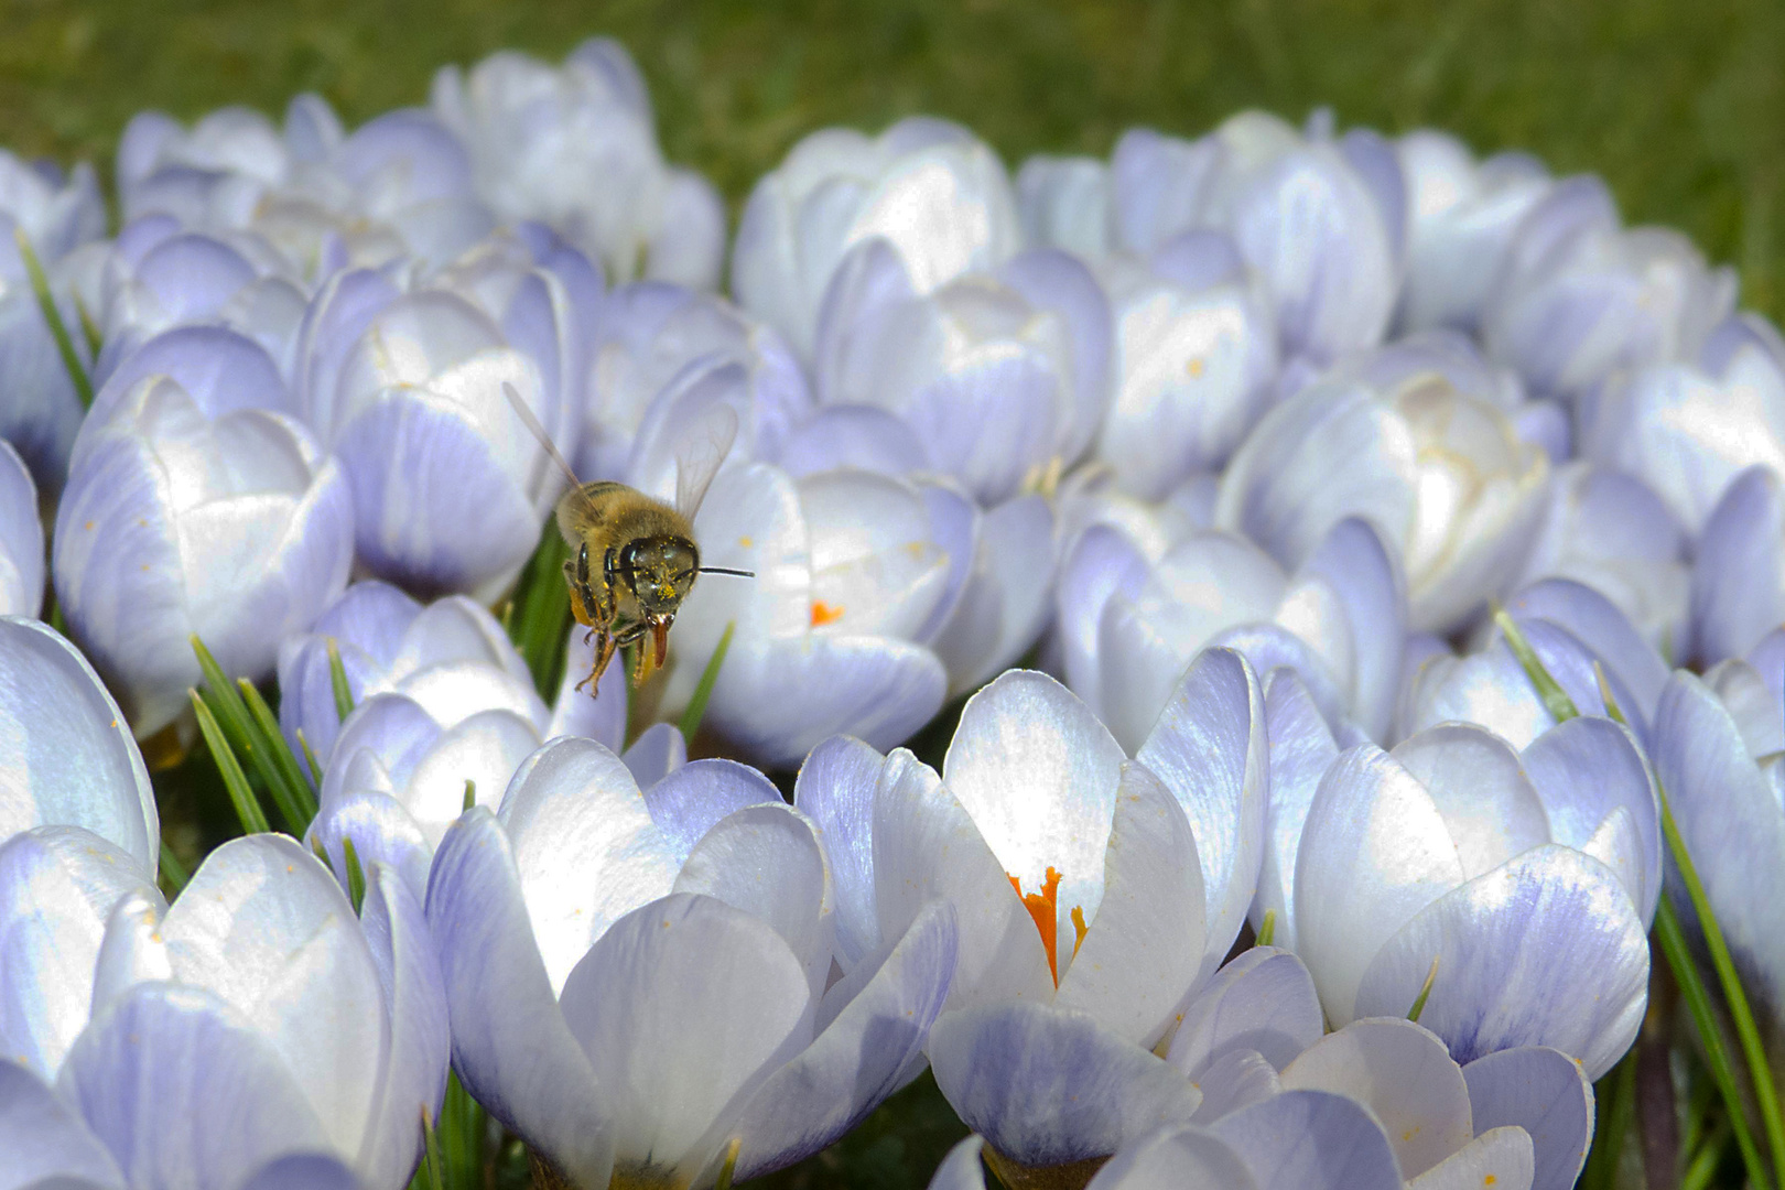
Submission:
{"label": "broad blurred lavender crocus in back row, right of centre, against grass", "polygon": [[1274,302],[1285,355],[1324,364],[1389,328],[1405,194],[1382,137],[1314,132],[1266,112],[1200,141],[1133,128],[1110,178],[1121,246],[1146,255],[1191,228],[1226,232]]}

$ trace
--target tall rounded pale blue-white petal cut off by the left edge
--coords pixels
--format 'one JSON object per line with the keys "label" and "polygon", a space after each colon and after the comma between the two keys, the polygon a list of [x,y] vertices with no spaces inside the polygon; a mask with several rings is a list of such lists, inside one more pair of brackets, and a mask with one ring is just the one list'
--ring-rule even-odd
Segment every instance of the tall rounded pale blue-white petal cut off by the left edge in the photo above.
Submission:
{"label": "tall rounded pale blue-white petal cut off by the left edge", "polygon": [[14,617],[0,617],[0,840],[82,826],[154,874],[155,792],[93,665],[48,624]]}

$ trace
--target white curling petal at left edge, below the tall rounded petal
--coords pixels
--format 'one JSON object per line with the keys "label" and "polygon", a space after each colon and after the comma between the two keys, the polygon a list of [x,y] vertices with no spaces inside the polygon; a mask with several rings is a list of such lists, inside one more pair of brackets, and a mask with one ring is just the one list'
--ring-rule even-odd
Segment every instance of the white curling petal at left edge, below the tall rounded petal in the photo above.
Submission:
{"label": "white curling petal at left edge, below the tall rounded petal", "polygon": [[54,1079],[87,1022],[93,967],[120,901],[161,894],[129,855],[77,826],[0,844],[0,1058]]}

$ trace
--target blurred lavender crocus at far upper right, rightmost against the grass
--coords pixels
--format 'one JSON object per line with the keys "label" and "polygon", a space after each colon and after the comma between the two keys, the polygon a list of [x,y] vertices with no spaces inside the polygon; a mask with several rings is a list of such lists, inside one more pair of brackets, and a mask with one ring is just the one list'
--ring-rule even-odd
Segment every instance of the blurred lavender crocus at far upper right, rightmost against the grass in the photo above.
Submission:
{"label": "blurred lavender crocus at far upper right, rightmost against the grass", "polygon": [[1708,268],[1669,228],[1624,228],[1605,184],[1576,177],[1519,225],[1482,337],[1533,391],[1576,396],[1619,371],[1694,359],[1733,305],[1731,269]]}

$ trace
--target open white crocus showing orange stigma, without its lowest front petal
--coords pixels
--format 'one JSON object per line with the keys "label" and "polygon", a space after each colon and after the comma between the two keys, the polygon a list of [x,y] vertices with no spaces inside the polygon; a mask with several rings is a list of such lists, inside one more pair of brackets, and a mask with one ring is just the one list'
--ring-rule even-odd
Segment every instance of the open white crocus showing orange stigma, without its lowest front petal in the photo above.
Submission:
{"label": "open white crocus showing orange stigma, without its lowest front petal", "polygon": [[951,1008],[1055,1004],[1132,1045],[1164,1035],[1239,933],[1262,781],[1257,680],[1210,649],[1137,760],[1059,682],[1010,671],[967,701],[941,774],[837,739],[794,803],[832,844],[839,951],[873,953],[944,897]]}

